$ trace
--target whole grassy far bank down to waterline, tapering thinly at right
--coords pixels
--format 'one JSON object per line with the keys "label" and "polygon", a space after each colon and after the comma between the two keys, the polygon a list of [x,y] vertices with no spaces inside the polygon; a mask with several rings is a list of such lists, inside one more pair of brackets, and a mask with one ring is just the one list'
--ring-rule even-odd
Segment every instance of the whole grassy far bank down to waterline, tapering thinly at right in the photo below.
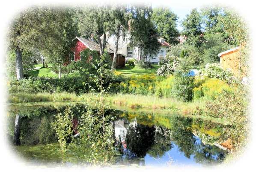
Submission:
{"label": "whole grassy far bank down to waterline, tapering thinly at right", "polygon": [[[10,94],[8,102],[10,108],[32,106],[65,106],[68,104],[86,104],[94,108],[99,97],[93,94],[75,95],[74,93],[15,93]],[[112,109],[137,113],[154,113],[157,115],[185,115],[191,118],[200,118],[212,122],[228,124],[229,121],[221,118],[211,118],[205,114],[193,115],[199,107],[205,109],[205,100],[182,102],[173,98],[159,98],[150,95],[106,95],[104,103],[110,104]]]}

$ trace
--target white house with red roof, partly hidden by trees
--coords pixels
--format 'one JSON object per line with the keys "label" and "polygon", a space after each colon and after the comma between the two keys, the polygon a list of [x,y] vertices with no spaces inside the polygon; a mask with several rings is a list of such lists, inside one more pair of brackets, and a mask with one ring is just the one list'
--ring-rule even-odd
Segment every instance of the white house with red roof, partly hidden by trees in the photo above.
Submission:
{"label": "white house with red roof, partly hidden by trees", "polygon": [[[125,56],[126,60],[129,58],[138,59],[139,58],[138,49],[136,47],[132,48],[130,46],[129,37],[130,37],[130,34],[127,34],[125,39],[123,39],[122,36],[120,37],[119,45],[118,45],[118,54],[122,54],[123,56]],[[115,35],[109,36],[107,34],[106,39],[108,43],[107,46],[109,46],[109,48],[111,49],[114,49],[116,36]],[[167,48],[170,47],[170,44],[167,43],[164,38],[158,38],[158,42],[161,43],[161,47],[159,49],[159,53],[150,60],[151,63],[158,63],[159,57],[160,56],[165,57],[167,53]]]}

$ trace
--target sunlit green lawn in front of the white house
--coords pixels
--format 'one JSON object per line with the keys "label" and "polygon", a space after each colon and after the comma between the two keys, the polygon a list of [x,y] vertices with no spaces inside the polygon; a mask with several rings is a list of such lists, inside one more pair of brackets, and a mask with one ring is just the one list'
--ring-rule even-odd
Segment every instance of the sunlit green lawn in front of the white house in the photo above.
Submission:
{"label": "sunlit green lawn in front of the white house", "polygon": [[116,71],[121,72],[124,75],[149,75],[156,74],[158,70],[158,65],[152,65],[152,69],[141,69],[139,66],[129,66],[125,65],[125,67],[116,69]]}

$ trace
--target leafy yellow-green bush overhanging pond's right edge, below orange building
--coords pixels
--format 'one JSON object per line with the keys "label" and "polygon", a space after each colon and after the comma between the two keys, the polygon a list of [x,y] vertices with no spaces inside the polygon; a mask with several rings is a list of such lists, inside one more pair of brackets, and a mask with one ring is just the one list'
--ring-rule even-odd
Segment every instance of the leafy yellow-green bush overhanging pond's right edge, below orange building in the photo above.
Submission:
{"label": "leafy yellow-green bush overhanging pond's right edge, below orange building", "polygon": [[215,100],[206,103],[207,115],[232,121],[223,129],[220,137],[223,141],[230,139],[234,149],[241,148],[246,142],[248,103],[248,90],[244,86],[238,86],[233,91],[223,91]]}

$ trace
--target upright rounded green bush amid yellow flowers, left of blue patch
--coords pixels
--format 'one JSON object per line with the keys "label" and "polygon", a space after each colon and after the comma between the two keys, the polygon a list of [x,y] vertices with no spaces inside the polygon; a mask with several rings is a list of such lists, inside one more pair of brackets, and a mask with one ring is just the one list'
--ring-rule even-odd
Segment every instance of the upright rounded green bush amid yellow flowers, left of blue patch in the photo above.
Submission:
{"label": "upright rounded green bush amid yellow flowers, left of blue patch", "polygon": [[194,77],[188,75],[188,71],[176,71],[173,87],[173,95],[180,100],[190,101],[193,97]]}

